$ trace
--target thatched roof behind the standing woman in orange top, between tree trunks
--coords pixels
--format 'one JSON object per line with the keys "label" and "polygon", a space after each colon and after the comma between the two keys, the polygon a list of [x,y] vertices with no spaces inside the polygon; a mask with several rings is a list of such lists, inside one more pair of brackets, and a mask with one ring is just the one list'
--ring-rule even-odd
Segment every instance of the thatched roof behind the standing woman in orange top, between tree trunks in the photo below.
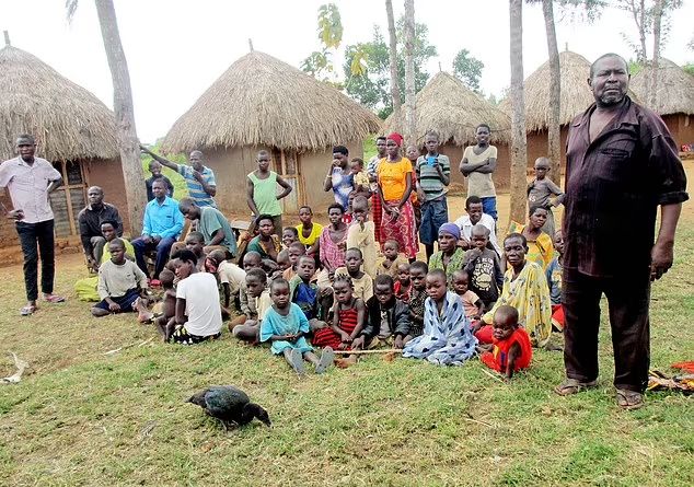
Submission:
{"label": "thatched roof behind the standing woman in orange top, between tree trunks", "polygon": [[[418,141],[424,141],[428,130],[435,130],[441,142],[475,143],[475,129],[479,124],[489,125],[493,143],[510,140],[509,117],[447,72],[438,72],[417,93],[416,103]],[[385,119],[384,130],[404,132],[404,116],[394,113]]]}

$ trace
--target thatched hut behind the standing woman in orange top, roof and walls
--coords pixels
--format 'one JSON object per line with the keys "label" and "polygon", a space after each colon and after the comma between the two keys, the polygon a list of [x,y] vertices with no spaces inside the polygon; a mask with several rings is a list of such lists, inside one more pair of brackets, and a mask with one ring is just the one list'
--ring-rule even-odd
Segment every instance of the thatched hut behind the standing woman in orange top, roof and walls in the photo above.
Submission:
{"label": "thatched hut behind the standing woman in orange top, roof and walls", "polygon": [[[417,140],[424,142],[427,131],[439,135],[439,152],[451,160],[452,183],[463,185],[465,178],[458,170],[465,146],[474,144],[475,129],[479,124],[491,128],[491,143],[497,147],[498,165],[494,173],[497,190],[506,190],[510,184],[508,146],[511,120],[508,115],[477,93],[470,90],[458,78],[438,72],[417,93]],[[385,119],[384,130],[405,132],[404,117],[392,114]]]}

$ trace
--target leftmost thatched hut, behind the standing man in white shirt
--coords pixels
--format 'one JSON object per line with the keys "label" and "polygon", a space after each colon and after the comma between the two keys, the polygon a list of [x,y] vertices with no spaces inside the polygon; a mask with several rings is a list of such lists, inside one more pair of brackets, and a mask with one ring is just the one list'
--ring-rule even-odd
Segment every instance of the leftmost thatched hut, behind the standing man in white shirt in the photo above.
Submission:
{"label": "leftmost thatched hut, behind the standing man in white shirt", "polygon": [[[10,45],[0,49],[0,162],[16,155],[18,135],[32,134],[37,155],[62,174],[63,185],[50,195],[56,236],[76,241],[71,237],[79,233],[76,220],[88,186],[102,186],[107,201],[126,208],[113,113],[85,89]],[[0,222],[0,247],[16,243],[8,221]]]}

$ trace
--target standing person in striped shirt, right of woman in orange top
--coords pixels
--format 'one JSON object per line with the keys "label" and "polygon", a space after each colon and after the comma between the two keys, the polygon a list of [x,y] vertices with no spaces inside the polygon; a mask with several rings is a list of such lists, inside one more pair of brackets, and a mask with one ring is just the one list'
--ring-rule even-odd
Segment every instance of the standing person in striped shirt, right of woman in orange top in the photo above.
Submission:
{"label": "standing person in striped shirt, right of woman in orange top", "polygon": [[433,254],[433,242],[438,240],[439,228],[448,222],[448,201],[446,195],[451,182],[451,161],[448,155],[439,154],[439,136],[427,132],[424,139],[426,155],[417,159],[417,196],[421,205],[421,224],[419,240],[427,251],[427,260]]}

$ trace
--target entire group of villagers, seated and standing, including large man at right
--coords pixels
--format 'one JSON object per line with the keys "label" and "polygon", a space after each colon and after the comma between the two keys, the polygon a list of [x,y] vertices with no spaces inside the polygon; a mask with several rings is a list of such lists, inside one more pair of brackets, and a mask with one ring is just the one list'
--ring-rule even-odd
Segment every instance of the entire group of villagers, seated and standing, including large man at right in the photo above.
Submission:
{"label": "entire group of villagers, seated and standing, including large man at right", "polygon": [[[686,181],[662,120],[626,95],[624,59],[599,58],[588,82],[595,103],[570,126],[566,193],[540,158],[528,186],[528,220],[512,221],[502,241],[491,177],[497,150],[485,124],[460,162],[467,198],[458,219],[449,217],[451,162],[439,152],[438,135],[429,131],[421,147],[403,150],[403,137],[390,134],[377,139],[378,154],[366,165],[347,147],[334,147],[324,189],[335,202],[325,210],[326,225],[303,206],[298,224],[282,227],[280,200],[292,187],[259,151],[257,170],[247,175],[253,230],[240,241],[216,207],[215,174],[201,152],[192,152],[188,165],[142,148],[152,156],[142,234],[125,240],[118,210],[102,188],[89,188],[78,220],[88,267],[97,276],[81,280],[78,294],[97,301],[94,316],[137,312],[170,343],[216,339],[227,321],[235,339],[268,344],[300,374],[304,362],[322,373],[333,363],[354,366],[362,350],[382,349],[440,366],[478,355],[510,379],[531,366],[533,349],[556,347],[553,331],[563,332],[567,378],[555,391],[567,395],[595,385],[604,292],[617,403],[639,407],[650,281],[672,265]],[[0,166],[0,186],[9,188],[8,216],[25,256],[22,314],[30,315],[37,309],[37,246],[44,298],[63,300],[53,292],[48,205],[60,174],[34,155],[31,136],[21,136],[18,149]],[[162,165],[185,178],[187,197],[173,199]],[[562,204],[557,230],[553,208]],[[178,242],[186,219],[192,224]],[[618,245],[624,241],[629,244]],[[425,258],[417,259],[420,243]],[[153,306],[152,288],[161,288]]]}

